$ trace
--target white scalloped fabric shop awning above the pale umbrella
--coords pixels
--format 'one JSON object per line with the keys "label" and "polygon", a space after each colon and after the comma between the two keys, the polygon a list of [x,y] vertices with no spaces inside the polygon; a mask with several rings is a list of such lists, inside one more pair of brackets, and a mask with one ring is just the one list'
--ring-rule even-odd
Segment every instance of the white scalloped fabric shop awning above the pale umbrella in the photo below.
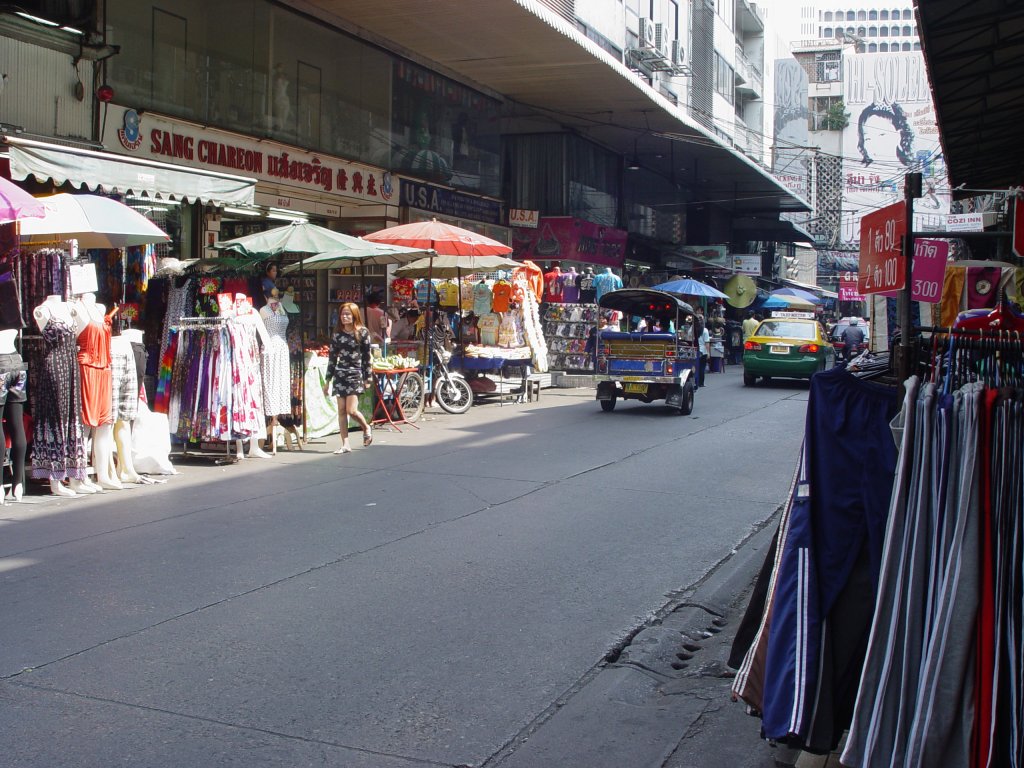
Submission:
{"label": "white scalloped fabric shop awning above the pale umbrella", "polygon": [[218,205],[252,205],[256,179],[125,158],[103,152],[7,137],[11,178],[34,176],[91,191]]}

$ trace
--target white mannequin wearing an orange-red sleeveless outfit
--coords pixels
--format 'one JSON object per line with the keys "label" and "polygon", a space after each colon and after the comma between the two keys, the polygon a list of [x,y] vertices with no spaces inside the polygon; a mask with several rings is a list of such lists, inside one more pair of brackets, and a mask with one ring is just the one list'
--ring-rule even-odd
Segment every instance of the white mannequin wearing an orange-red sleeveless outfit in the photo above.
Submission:
{"label": "white mannequin wearing an orange-red sleeveless outfit", "polygon": [[[115,311],[117,309],[115,308]],[[78,333],[78,362],[82,380],[82,423],[92,433],[92,468],[100,488],[124,487],[114,471],[114,372],[111,368],[111,318],[95,294],[84,294],[72,305]],[[113,314],[113,313],[112,313]],[[88,484],[84,480],[83,485]],[[78,490],[78,483],[71,486]]]}

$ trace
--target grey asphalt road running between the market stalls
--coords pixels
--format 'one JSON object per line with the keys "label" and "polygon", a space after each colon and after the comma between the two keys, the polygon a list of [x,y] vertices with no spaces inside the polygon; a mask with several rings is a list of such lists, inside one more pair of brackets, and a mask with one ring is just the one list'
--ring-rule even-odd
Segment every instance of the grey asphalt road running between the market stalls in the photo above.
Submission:
{"label": "grey asphalt road running between the market stalls", "polygon": [[0,764],[596,768],[555,714],[796,464],[806,385],[708,378],[691,417],[549,389],[0,509]]}

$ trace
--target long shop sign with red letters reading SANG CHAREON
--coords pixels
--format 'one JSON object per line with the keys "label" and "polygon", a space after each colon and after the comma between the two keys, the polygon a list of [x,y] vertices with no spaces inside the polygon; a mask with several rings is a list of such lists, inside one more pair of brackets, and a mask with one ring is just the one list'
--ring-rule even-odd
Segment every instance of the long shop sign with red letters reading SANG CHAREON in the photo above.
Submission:
{"label": "long shop sign with red letters reading SANG CHAREON", "polygon": [[294,146],[108,105],[109,152],[188,168],[236,173],[276,186],[396,205],[395,181],[380,168]]}

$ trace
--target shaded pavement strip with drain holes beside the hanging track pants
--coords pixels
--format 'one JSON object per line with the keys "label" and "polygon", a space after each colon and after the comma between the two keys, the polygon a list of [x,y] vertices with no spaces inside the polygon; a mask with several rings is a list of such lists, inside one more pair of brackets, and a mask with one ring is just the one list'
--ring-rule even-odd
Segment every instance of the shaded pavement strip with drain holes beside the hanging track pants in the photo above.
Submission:
{"label": "shaded pavement strip with drain holes beside the hanging track pants", "polygon": [[773,516],[608,664],[494,761],[500,768],[839,768],[760,738],[732,701],[735,628],[778,522]]}

